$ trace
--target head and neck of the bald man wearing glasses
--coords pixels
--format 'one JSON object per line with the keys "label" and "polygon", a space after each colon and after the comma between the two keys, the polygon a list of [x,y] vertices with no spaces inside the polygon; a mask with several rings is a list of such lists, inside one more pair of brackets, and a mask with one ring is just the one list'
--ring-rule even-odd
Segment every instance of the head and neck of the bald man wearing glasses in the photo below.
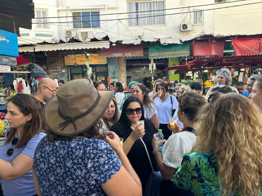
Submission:
{"label": "head and neck of the bald man wearing glasses", "polygon": [[56,95],[57,93],[57,84],[54,80],[50,78],[42,79],[38,84],[37,94],[35,98],[39,101],[42,110],[45,106],[45,101],[50,97]]}

